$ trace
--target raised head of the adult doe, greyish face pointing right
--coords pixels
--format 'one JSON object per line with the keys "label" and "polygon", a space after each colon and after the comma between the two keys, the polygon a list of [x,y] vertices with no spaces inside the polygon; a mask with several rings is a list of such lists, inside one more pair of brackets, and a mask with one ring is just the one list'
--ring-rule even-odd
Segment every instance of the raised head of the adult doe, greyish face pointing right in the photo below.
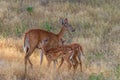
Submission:
{"label": "raised head of the adult doe, greyish face pointing right", "polygon": [[75,31],[75,29],[68,23],[68,19],[67,18],[65,18],[65,19],[60,18],[59,21],[62,24],[62,26],[65,29],[67,29],[68,31],[70,31],[70,32],[74,32]]}

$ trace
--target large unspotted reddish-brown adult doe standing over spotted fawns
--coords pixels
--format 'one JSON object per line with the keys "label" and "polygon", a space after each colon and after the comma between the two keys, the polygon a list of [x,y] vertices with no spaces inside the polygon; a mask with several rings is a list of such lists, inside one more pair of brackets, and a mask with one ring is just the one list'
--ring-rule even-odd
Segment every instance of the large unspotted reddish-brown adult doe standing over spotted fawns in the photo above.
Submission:
{"label": "large unspotted reddish-brown adult doe standing over spotted fawns", "polygon": [[[66,30],[71,31],[71,32],[75,31],[75,29],[68,23],[67,18],[65,19],[60,18],[59,21],[62,25],[62,28],[58,34],[54,34],[52,32],[48,32],[48,31],[41,30],[41,29],[31,29],[25,33],[25,36],[24,36],[24,51],[26,53],[25,74],[27,72],[27,61],[29,61],[32,67],[32,63],[29,57],[31,56],[35,48],[40,48],[39,43],[42,40],[45,40],[45,39],[48,40],[48,43],[44,45],[45,47],[44,49],[49,50],[51,48],[59,46],[59,40],[63,37],[64,32]],[[44,50],[42,49],[40,64],[42,64],[42,60],[43,60],[43,51]]]}

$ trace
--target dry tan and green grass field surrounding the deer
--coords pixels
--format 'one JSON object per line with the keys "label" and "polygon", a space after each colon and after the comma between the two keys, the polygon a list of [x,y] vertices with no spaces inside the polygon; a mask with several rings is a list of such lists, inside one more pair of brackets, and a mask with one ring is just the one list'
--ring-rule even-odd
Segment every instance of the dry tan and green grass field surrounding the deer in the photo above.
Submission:
{"label": "dry tan and green grass field surrounding the deer", "polygon": [[[83,46],[83,72],[64,64],[58,74],[40,66],[36,49],[30,57],[27,80],[120,80],[120,0],[0,0],[0,80],[23,80],[23,36],[32,28],[59,32],[60,17],[76,29],[64,35],[66,43]],[[43,1],[43,2],[42,2]]]}

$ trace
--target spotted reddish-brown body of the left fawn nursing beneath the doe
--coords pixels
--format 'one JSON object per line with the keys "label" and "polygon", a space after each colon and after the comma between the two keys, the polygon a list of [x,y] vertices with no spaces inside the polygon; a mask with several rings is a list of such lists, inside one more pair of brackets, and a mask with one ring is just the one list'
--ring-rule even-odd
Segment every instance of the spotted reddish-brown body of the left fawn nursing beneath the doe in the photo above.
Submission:
{"label": "spotted reddish-brown body of the left fawn nursing beneath the doe", "polygon": [[62,57],[68,63],[68,67],[71,66],[69,58],[72,55],[72,49],[69,46],[60,46],[57,48],[53,48],[46,53],[48,66],[50,66],[52,61],[57,60],[59,57]]}

